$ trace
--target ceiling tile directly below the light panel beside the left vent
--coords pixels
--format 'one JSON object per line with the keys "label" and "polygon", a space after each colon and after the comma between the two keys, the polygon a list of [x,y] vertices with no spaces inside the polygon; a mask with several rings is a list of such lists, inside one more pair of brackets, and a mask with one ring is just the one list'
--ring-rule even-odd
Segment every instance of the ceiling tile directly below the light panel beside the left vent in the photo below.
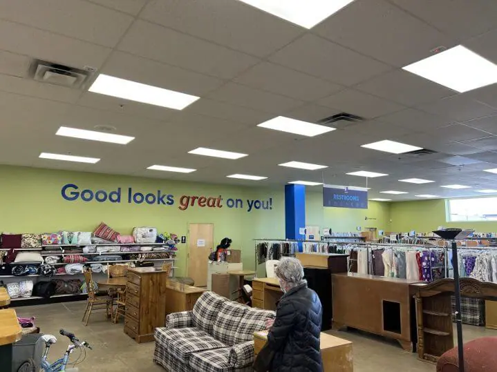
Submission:
{"label": "ceiling tile directly below the light panel beside the left vent", "polygon": [[171,115],[176,113],[176,110],[169,108],[141,104],[140,102],[128,101],[126,99],[100,95],[93,92],[83,93],[82,97],[77,101],[77,104],[79,106],[124,112],[127,115],[138,115],[157,120],[167,120]]}

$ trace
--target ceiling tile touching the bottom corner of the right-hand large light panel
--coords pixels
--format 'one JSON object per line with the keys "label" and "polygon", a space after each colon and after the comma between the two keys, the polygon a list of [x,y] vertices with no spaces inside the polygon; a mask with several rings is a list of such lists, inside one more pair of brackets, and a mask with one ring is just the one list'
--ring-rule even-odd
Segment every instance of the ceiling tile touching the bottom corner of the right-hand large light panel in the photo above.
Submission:
{"label": "ceiling tile touching the bottom corner of the right-hand large light panel", "polygon": [[423,104],[418,106],[418,109],[458,121],[467,121],[497,114],[497,108],[492,108],[471,99],[466,93],[439,99],[430,104]]}

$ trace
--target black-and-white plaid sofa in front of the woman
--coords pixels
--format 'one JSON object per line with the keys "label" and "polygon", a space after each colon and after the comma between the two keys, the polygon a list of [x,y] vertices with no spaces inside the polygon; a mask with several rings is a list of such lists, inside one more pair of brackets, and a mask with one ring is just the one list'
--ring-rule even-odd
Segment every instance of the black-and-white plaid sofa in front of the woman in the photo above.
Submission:
{"label": "black-and-white plaid sofa in front of the woman", "polygon": [[156,329],[153,361],[170,372],[252,372],[253,335],[268,318],[273,311],[205,292],[193,311],[169,314]]}

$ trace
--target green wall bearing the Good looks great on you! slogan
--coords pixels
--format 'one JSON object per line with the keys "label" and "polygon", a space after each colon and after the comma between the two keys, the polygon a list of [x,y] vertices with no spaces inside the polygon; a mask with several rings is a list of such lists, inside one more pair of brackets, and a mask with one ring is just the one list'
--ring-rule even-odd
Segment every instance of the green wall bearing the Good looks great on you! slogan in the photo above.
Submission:
{"label": "green wall bearing the Good looks great on you! slogan", "polygon": [[[120,204],[110,202],[68,202],[62,198],[65,184],[80,188],[115,190],[121,187]],[[174,206],[128,204],[127,188],[143,193],[172,194]],[[240,198],[243,209],[189,207],[180,211],[182,195]],[[272,210],[247,213],[247,199],[272,197]],[[174,182],[162,179],[145,179],[95,173],[77,173],[62,170],[44,170],[0,166],[0,231],[11,233],[42,233],[58,230],[93,231],[104,221],[120,233],[129,234],[133,226],[156,226],[159,231],[187,235],[189,223],[213,223],[214,239],[225,236],[233,239],[233,247],[241,248],[245,268],[254,266],[254,237],[284,236],[283,191],[263,188],[244,188]],[[186,244],[178,246],[177,275],[186,273]]]}

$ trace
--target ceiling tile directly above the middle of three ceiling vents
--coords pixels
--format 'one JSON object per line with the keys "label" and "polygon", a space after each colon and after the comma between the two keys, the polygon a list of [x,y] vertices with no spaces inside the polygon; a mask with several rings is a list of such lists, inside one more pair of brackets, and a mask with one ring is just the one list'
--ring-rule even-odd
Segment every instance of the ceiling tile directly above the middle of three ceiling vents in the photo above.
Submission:
{"label": "ceiling tile directly above the middle of three ceiling vents", "polygon": [[330,97],[319,99],[317,104],[366,118],[379,117],[404,108],[392,101],[353,89],[342,90]]}

